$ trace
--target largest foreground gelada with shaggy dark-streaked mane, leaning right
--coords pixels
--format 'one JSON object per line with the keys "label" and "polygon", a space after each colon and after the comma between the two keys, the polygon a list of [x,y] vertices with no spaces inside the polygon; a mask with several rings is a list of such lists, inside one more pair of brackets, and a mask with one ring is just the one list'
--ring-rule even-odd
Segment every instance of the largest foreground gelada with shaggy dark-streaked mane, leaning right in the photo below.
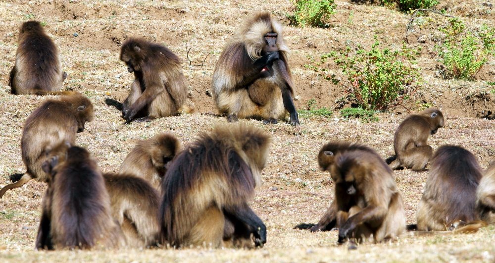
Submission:
{"label": "largest foreground gelada with shaggy dark-streaked mane, leaning right", "polygon": [[244,125],[201,133],[163,177],[162,244],[219,247],[223,238],[252,234],[262,247],[266,227],[247,202],[261,182],[269,144],[268,135]]}

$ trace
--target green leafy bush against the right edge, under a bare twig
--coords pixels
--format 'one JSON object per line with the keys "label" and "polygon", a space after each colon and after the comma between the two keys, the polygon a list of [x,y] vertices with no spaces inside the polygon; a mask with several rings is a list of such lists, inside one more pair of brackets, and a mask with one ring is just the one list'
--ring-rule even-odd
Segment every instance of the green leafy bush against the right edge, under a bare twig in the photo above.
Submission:
{"label": "green leafy bush against the right edge, under a bare twig", "polygon": [[482,26],[479,32],[465,30],[462,21],[453,18],[439,30],[446,36],[437,51],[446,66],[444,77],[473,79],[489,56],[495,54],[495,28]]}

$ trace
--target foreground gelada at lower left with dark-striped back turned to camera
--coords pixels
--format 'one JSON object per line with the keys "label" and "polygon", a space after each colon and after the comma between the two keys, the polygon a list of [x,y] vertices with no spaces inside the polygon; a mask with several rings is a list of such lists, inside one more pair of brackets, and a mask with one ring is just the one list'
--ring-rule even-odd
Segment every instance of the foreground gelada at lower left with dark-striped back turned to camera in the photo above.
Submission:
{"label": "foreground gelada at lower left with dark-striped back turned to camera", "polygon": [[110,198],[96,161],[69,142],[48,150],[43,170],[48,189],[42,202],[37,249],[125,245],[120,226],[110,212]]}

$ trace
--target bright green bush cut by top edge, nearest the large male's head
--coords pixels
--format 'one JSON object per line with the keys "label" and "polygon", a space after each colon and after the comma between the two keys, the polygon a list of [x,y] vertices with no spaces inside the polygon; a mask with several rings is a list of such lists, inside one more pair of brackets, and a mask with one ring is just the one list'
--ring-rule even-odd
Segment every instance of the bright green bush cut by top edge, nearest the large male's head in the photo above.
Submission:
{"label": "bright green bush cut by top edge, nearest the large male's head", "polygon": [[294,13],[287,14],[296,26],[326,27],[328,19],[335,13],[334,0],[291,0]]}

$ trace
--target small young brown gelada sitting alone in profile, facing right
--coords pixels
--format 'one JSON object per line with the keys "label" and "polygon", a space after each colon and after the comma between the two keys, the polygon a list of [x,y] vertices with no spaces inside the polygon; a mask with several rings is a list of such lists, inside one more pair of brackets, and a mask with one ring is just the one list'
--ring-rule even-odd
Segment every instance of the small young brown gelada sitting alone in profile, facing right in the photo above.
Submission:
{"label": "small young brown gelada sitting alone in profile, facing right", "polygon": [[433,149],[428,145],[428,136],[437,133],[437,129],[441,127],[444,127],[444,115],[437,108],[427,108],[404,119],[394,136],[396,159],[390,167],[424,169],[433,155]]}

